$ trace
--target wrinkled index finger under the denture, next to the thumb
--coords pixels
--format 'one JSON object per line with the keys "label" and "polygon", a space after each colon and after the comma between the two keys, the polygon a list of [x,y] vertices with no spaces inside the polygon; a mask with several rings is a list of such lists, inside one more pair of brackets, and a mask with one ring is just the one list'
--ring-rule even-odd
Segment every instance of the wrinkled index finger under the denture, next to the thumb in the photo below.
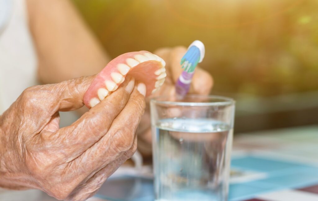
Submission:
{"label": "wrinkled index finger under the denture, next to the thumb", "polygon": [[54,141],[62,144],[69,154],[73,154],[73,158],[78,157],[108,132],[113,120],[127,104],[134,85],[134,78],[126,78],[116,91],[91,108],[76,122],[59,129],[54,134]]}

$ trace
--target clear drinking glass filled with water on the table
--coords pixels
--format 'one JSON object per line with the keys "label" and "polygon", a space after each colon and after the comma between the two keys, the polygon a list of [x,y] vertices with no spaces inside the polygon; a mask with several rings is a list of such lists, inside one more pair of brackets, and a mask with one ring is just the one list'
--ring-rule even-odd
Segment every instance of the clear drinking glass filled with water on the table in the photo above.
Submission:
{"label": "clear drinking glass filled with water on the table", "polygon": [[225,201],[234,101],[219,96],[150,101],[156,201]]}

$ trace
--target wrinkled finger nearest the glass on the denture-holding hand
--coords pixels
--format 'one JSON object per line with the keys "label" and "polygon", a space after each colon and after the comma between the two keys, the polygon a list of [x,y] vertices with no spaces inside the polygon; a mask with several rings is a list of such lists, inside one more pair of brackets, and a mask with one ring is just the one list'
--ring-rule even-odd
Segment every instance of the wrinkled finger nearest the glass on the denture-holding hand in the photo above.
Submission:
{"label": "wrinkled finger nearest the glass on the denture-holding hand", "polygon": [[105,166],[133,146],[137,127],[146,107],[145,91],[144,84],[135,86],[126,107],[114,119],[107,134],[79,156],[79,162],[85,158],[94,158],[86,162],[85,166],[88,167],[86,171],[96,166]]}

